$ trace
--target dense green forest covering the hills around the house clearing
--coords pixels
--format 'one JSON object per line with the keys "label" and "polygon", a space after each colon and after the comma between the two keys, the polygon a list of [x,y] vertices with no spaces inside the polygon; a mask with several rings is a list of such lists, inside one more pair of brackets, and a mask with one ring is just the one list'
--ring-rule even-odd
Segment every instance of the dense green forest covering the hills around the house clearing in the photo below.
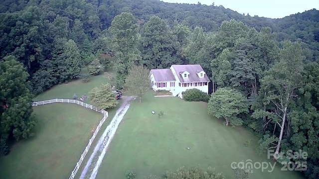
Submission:
{"label": "dense green forest covering the hills around the house clearing", "polygon": [[[307,151],[304,174],[319,178],[316,9],[270,19],[159,0],[2,0],[0,37],[4,153],[12,136],[32,135],[30,91],[81,78],[81,68],[95,59],[114,67],[118,88],[132,64],[200,64],[213,91],[231,88],[248,99],[249,112],[233,123],[261,138],[261,152]],[[21,106],[26,112],[17,114]]]}

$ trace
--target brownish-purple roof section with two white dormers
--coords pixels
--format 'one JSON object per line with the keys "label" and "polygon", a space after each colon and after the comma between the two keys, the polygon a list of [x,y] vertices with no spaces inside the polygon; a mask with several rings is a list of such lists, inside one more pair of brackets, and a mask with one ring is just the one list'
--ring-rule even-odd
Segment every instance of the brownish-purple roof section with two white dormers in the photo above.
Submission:
{"label": "brownish-purple roof section with two white dormers", "polygon": [[[209,78],[206,74],[204,74],[204,78],[199,78],[196,72],[204,71],[200,65],[172,65],[171,66],[181,83],[183,82],[210,82]],[[189,73],[188,79],[183,79],[182,76],[179,74],[180,71],[187,71]]]}

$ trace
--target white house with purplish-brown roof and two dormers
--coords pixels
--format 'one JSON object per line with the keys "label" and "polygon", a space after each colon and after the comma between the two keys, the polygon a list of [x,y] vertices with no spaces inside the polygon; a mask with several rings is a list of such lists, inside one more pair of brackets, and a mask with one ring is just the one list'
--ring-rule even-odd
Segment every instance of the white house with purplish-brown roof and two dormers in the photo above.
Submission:
{"label": "white house with purplish-brown roof and two dormers", "polygon": [[168,90],[180,98],[186,89],[199,89],[208,94],[210,81],[200,65],[172,65],[169,69],[153,69],[150,78],[154,90]]}

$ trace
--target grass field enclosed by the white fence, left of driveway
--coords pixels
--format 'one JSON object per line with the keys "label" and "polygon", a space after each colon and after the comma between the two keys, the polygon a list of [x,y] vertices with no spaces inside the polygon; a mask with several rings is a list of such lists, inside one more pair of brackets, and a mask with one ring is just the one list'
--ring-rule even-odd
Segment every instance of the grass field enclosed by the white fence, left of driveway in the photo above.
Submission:
{"label": "grass field enclosed by the white fence, left of driveway", "polygon": [[1,179],[66,179],[70,176],[102,114],[76,104],[33,107],[33,138],[0,156]]}

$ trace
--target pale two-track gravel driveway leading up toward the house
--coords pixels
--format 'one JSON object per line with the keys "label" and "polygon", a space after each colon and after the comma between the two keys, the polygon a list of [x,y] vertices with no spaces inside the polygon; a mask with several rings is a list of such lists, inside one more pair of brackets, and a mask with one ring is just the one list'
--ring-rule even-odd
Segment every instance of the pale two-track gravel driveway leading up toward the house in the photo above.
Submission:
{"label": "pale two-track gravel driveway leading up toward the house", "polygon": [[86,163],[81,173],[80,179],[95,179],[100,165],[103,161],[103,158],[106,154],[107,148],[115,135],[115,131],[118,128],[120,122],[122,121],[125,113],[128,111],[130,107],[130,101],[135,98],[136,96],[121,97],[120,100],[123,100],[123,102],[120,108],[116,111],[116,114],[113,117],[112,121],[103,132],[98,143],[94,147],[94,151],[91,154],[88,162]]}

